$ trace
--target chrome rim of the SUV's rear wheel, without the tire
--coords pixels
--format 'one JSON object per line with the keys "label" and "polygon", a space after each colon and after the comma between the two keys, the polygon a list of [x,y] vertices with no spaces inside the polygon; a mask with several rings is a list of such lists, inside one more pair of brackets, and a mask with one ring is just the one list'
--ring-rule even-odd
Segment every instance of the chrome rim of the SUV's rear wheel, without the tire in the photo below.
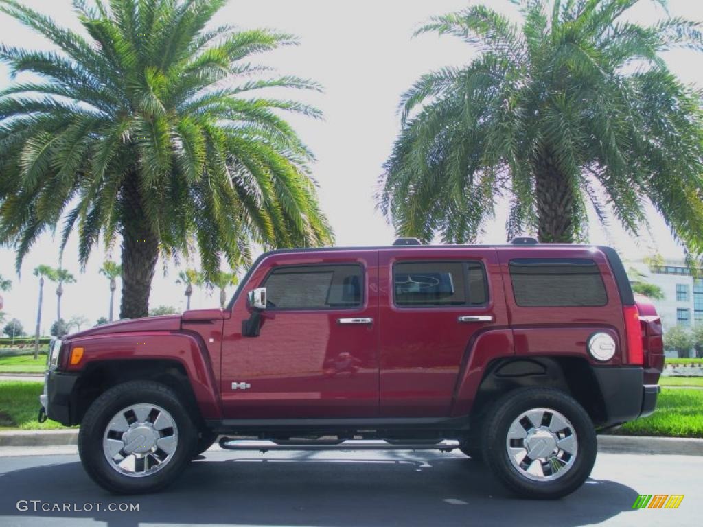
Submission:
{"label": "chrome rim of the SUV's rear wheel, without the tire", "polygon": [[532,408],[512,422],[505,439],[512,466],[533,481],[551,481],[566,474],[579,451],[574,425],[550,408]]}

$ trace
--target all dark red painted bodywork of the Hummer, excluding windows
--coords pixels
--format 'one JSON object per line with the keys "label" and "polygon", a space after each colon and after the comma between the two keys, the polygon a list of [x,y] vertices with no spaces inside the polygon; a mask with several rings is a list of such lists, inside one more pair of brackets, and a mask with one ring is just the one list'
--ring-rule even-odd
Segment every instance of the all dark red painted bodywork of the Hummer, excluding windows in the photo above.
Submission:
{"label": "all dark red painted bodywork of the Hummer, excluding windows", "polygon": [[[607,292],[599,307],[517,306],[508,264],[513,258],[588,258]],[[484,266],[484,306],[401,307],[393,299],[393,266],[403,261],[477,261]],[[258,337],[243,337],[252,308],[245,293],[273,268],[357,263],[363,268],[363,305],[330,310],[262,311]],[[231,309],[186,311],[101,325],[67,337],[84,346],[78,372],[109,360],[167,359],[180,363],[204,419],[460,417],[472,408],[491,360],[510,356],[574,356],[593,365],[621,365],[626,332],[619,290],[600,249],[577,246],[379,247],[273,252],[247,278]],[[645,381],[663,365],[661,321],[638,299]],[[460,323],[458,317],[490,320]],[[370,318],[340,325],[346,317]],[[620,353],[598,363],[586,351],[593,332],[610,334]],[[247,383],[248,389],[233,389]]]}

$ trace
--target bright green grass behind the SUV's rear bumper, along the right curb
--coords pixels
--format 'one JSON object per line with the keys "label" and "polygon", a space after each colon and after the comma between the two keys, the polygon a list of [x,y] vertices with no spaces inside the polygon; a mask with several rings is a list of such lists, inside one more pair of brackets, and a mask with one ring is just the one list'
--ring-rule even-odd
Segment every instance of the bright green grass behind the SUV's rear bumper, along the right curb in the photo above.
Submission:
{"label": "bright green grass behind the SUV's rear bumper, along the right curb", "polygon": [[649,417],[614,429],[626,436],[669,436],[703,438],[703,390],[662,390],[657,410]]}

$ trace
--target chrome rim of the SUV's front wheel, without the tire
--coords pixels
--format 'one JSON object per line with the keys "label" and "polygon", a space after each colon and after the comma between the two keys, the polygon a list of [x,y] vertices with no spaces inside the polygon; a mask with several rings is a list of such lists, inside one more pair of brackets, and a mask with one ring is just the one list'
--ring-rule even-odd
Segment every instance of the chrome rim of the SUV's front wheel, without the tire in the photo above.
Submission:
{"label": "chrome rim of the SUV's front wheel, without the tire", "polygon": [[153,404],[136,404],[115,414],[103,435],[110,467],[132,477],[151,476],[172,460],[178,427],[169,412]]}

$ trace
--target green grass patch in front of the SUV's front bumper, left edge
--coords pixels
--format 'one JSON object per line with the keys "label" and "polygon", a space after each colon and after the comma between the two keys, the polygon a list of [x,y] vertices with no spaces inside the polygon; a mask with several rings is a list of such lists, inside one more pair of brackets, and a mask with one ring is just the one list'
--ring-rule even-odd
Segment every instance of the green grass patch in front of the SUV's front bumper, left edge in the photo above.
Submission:
{"label": "green grass patch in front of the SUV's front bumper, left edge", "polygon": [[41,382],[0,382],[0,429],[39,430],[65,428],[56,421],[37,422]]}

